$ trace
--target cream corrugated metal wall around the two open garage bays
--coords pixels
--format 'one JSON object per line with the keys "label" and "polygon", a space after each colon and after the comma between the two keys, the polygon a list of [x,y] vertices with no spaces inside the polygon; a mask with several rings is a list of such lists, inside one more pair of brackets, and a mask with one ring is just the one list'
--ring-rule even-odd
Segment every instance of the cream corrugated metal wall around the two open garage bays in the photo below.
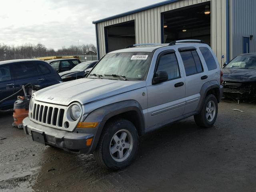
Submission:
{"label": "cream corrugated metal wall around the two open garage bays", "polygon": [[[136,43],[161,43],[161,12],[182,8],[209,0],[180,0],[142,12],[97,23],[99,56],[106,54],[104,27],[130,20],[135,20]],[[211,0],[212,49],[220,62],[222,54],[226,55],[226,1]]]}

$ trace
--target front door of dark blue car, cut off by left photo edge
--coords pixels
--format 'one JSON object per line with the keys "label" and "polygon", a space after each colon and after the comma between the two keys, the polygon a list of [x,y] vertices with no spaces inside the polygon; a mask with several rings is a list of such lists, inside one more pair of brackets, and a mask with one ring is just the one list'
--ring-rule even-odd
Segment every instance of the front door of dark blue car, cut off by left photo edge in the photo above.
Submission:
{"label": "front door of dark blue car, cut off by left photo edge", "polygon": [[[14,78],[12,77],[10,64],[0,65],[0,100],[15,93]],[[16,98],[10,98],[0,104],[1,109],[9,109],[13,107]]]}

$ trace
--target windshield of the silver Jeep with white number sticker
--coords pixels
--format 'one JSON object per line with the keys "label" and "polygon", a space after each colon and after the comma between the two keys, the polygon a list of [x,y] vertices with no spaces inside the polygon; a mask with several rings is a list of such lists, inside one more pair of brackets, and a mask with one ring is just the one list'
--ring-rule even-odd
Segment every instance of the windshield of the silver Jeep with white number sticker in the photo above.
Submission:
{"label": "windshield of the silver Jeep with white number sticker", "polygon": [[151,57],[151,52],[107,54],[93,68],[88,77],[95,78],[95,74],[97,74],[102,75],[101,78],[108,79],[120,80],[121,78],[117,78],[117,76],[122,76],[126,80],[145,80]]}

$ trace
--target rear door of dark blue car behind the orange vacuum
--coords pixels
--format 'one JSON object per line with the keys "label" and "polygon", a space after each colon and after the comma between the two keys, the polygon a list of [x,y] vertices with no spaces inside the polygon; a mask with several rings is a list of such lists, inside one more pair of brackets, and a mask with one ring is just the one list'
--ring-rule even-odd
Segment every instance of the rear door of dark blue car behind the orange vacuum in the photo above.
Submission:
{"label": "rear door of dark blue car behind the orange vacuum", "polygon": [[38,69],[37,61],[18,62],[12,65],[15,77],[16,91],[20,90],[22,85],[32,83],[43,86],[45,77]]}

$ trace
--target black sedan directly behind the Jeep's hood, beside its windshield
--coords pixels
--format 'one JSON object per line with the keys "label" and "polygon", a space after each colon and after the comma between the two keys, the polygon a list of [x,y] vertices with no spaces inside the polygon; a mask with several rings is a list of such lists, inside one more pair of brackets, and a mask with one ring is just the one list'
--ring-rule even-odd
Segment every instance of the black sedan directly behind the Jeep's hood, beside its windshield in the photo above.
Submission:
{"label": "black sedan directly behind the Jeep's hood, beside its windshield", "polygon": [[60,72],[59,75],[62,81],[71,81],[75,79],[84,78],[87,69],[94,67],[98,61],[86,61],[78,64],[69,71]]}

